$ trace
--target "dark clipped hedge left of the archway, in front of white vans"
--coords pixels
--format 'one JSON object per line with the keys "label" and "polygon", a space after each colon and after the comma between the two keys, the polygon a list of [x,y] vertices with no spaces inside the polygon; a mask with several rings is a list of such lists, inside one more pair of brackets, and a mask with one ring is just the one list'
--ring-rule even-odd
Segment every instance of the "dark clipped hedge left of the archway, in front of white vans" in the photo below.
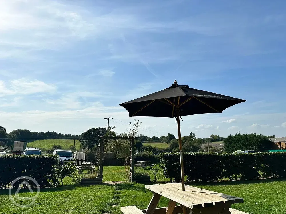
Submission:
{"label": "dark clipped hedge left of the archway, in front of white vans", "polygon": [[[0,156],[0,188],[8,187],[14,179],[21,176],[32,177],[40,187],[57,185],[55,165],[58,163],[59,160],[54,155]],[[33,182],[31,185],[35,186]]]}

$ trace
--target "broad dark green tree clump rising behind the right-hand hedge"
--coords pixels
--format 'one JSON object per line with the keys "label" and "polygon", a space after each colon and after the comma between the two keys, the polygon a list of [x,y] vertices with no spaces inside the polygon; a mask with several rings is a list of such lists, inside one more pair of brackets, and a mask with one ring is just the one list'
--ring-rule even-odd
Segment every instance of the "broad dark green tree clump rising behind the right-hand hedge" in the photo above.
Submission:
{"label": "broad dark green tree clump rising behind the right-hand hedge", "polygon": [[273,148],[273,144],[265,135],[236,133],[225,138],[224,149],[225,152],[234,152],[236,150],[254,150],[255,146],[258,152],[263,152]]}

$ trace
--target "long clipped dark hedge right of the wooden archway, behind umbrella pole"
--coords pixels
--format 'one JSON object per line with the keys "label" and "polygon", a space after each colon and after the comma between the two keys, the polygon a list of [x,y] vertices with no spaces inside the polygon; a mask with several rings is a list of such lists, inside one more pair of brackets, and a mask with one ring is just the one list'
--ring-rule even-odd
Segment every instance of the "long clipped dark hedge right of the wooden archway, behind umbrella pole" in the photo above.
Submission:
{"label": "long clipped dark hedge right of the wooden archway, behind umbrella pole", "polygon": [[[160,154],[164,175],[180,181],[180,155]],[[222,178],[250,180],[286,177],[286,152],[277,153],[184,153],[184,174],[188,181],[208,182]]]}

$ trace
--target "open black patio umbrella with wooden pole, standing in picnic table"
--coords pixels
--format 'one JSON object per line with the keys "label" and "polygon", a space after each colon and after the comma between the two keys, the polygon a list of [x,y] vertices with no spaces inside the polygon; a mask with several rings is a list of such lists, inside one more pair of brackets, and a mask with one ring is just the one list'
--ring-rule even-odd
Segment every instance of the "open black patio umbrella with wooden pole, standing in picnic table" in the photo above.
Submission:
{"label": "open black patio umbrella with wooden pole, standing in picnic table", "polygon": [[184,166],[180,117],[193,114],[222,113],[226,108],[245,102],[208,91],[178,85],[175,80],[169,88],[120,104],[126,108],[130,117],[176,117],[180,147],[182,190],[184,191]]}

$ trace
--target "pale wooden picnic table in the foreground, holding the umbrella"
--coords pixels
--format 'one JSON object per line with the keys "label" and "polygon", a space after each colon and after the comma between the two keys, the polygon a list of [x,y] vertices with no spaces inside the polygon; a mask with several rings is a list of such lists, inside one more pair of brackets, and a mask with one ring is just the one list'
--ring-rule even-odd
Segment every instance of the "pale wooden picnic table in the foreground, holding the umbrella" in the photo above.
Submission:
{"label": "pale wooden picnic table in the foreground, holding the umbrella", "polygon": [[[181,183],[145,187],[153,192],[147,209],[140,210],[136,206],[121,207],[124,214],[247,214],[230,208],[233,203],[243,203],[243,198],[188,185],[185,185],[185,191],[182,191]],[[161,196],[169,199],[168,207],[156,208]]]}

